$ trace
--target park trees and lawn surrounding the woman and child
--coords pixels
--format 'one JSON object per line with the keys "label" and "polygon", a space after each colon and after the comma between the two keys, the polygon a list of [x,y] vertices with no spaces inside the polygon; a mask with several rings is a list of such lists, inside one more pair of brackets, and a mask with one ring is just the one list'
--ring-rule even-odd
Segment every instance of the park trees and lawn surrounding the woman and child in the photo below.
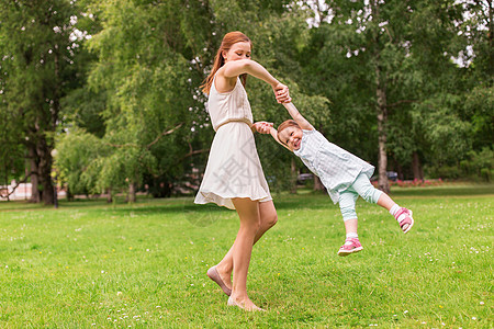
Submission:
{"label": "park trees and lawn surrounding the woman and child", "polygon": [[[0,327],[492,328],[490,1],[0,4]],[[416,218],[403,236],[359,201],[364,250],[338,258],[338,207],[257,135],[279,214],[249,271],[266,314],[205,276],[235,212],[193,205],[214,136],[199,86],[229,31]],[[289,118],[266,83],[247,93],[256,120]]]}

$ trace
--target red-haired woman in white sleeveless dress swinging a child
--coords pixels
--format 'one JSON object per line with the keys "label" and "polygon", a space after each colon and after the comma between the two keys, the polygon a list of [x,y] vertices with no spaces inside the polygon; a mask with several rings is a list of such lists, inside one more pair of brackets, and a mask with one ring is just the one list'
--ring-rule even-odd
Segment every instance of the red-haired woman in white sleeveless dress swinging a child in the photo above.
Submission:
{"label": "red-haired woman in white sleeveless dress swinging a child", "polygon": [[[277,211],[254,140],[252,113],[244,89],[247,75],[269,83],[278,102],[290,102],[288,87],[250,59],[250,39],[240,32],[227,33],[214,59],[203,91],[216,132],[195,203],[216,203],[236,209],[240,228],[223,260],[207,276],[229,296],[227,305],[260,310],[247,295],[247,271],[252,245],[272,227]],[[233,283],[232,275],[233,272]]]}

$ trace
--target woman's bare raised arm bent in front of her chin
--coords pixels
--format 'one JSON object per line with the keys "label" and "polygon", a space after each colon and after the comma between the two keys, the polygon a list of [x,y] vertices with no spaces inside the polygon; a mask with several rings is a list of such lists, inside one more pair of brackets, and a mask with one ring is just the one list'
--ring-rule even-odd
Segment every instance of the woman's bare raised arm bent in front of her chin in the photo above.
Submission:
{"label": "woman's bare raised arm bent in front of her chin", "polygon": [[[292,100],[290,98],[288,87],[274,79],[274,77],[271,76],[271,73],[257,61],[251,59],[232,60],[225,63],[225,65],[218,70],[218,75],[223,76],[225,80],[227,80],[225,81],[228,84],[225,86],[227,87],[225,88],[227,90],[231,90],[236,83],[236,78],[244,73],[248,73],[271,84],[279,103],[287,103]],[[223,89],[222,87],[220,88]]]}

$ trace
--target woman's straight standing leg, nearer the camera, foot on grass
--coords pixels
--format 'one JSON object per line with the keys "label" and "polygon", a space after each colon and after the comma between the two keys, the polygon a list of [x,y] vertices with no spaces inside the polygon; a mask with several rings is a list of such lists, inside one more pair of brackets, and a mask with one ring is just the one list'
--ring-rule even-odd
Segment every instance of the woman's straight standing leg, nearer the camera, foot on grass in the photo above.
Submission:
{"label": "woman's straight standing leg, nearer the camera, foot on grass", "polygon": [[247,295],[247,273],[254,239],[260,227],[259,202],[250,198],[234,198],[233,203],[240,217],[240,228],[233,246],[234,280],[228,305],[256,310],[259,308]]}

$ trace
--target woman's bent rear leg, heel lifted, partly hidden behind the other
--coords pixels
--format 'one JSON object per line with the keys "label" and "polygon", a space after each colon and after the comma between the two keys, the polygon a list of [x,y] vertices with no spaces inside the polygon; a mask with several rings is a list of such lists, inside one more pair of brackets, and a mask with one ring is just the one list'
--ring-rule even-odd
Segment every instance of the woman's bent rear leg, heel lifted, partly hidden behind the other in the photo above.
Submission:
{"label": "woman's bent rear leg, heel lifted, partly hidden behind the other", "polygon": [[[274,204],[272,201],[268,202],[258,202],[259,205],[259,217],[260,217],[260,227],[254,237],[254,243],[256,243],[262,235],[274,226],[278,222],[277,209],[274,208]],[[229,248],[228,252],[216,265],[216,271],[220,274],[223,283],[227,286],[227,288],[232,287],[232,272],[233,272],[233,246]]]}

